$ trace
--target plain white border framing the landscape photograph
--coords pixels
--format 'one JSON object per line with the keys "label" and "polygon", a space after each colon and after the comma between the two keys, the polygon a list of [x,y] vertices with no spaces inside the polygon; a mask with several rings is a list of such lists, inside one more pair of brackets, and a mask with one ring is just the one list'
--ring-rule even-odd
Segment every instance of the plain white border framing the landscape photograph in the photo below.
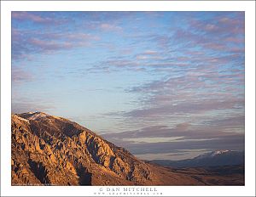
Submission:
{"label": "plain white border framing the landscape photograph", "polygon": [[[159,186],[163,195],[245,196],[255,195],[255,2],[21,2],[1,3],[1,194],[5,196],[93,196],[100,187],[11,186],[11,11],[246,11],[246,185],[221,187]],[[108,187],[111,188],[111,187]]]}

